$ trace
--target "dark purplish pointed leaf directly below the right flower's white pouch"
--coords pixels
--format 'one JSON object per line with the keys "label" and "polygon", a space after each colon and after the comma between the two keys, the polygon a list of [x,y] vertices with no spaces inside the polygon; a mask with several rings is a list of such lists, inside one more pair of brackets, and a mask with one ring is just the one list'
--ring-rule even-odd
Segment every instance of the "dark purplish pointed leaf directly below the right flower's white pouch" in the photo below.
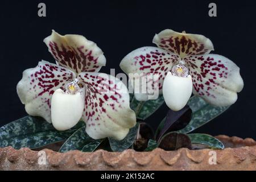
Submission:
{"label": "dark purplish pointed leaf directly below the right flower's white pouch", "polygon": [[188,105],[179,111],[173,111],[170,109],[167,113],[166,121],[164,121],[163,124],[160,123],[163,127],[159,134],[156,135],[156,139],[159,140],[165,133],[183,129],[191,120],[191,115],[192,111]]}

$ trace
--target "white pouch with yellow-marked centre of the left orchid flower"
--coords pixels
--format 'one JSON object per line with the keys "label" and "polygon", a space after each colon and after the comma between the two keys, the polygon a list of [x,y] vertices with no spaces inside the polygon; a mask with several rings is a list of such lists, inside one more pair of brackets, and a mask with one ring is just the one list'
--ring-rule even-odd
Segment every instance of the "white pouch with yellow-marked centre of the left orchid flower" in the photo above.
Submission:
{"label": "white pouch with yellow-marked centre of the left orchid flower", "polygon": [[82,117],[85,88],[79,88],[76,83],[77,80],[68,84],[65,92],[57,89],[52,95],[51,118],[56,130],[71,129]]}

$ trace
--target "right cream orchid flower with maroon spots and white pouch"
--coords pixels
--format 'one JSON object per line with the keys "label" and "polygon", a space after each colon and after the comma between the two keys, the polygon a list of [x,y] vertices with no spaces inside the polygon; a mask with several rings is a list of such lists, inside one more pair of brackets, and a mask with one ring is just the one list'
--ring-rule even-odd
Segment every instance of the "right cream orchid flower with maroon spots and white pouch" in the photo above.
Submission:
{"label": "right cream orchid flower with maroon spots and white pouch", "polygon": [[[224,56],[209,54],[214,50],[210,39],[163,30],[154,36],[153,43],[158,47],[135,49],[123,58],[120,67],[127,74],[158,74],[159,93],[170,109],[182,109],[192,92],[216,106],[236,102],[243,88],[240,68]],[[135,98],[148,99],[145,93],[135,93]]]}

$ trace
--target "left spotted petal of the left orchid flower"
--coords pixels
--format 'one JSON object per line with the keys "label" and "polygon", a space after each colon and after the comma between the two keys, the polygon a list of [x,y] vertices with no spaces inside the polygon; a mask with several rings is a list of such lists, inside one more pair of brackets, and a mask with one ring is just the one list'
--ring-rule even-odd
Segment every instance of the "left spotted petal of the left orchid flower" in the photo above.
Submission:
{"label": "left spotted petal of the left orchid flower", "polygon": [[26,69],[17,85],[17,92],[28,114],[51,122],[51,97],[56,89],[63,89],[76,74],[59,65],[40,61],[35,68]]}

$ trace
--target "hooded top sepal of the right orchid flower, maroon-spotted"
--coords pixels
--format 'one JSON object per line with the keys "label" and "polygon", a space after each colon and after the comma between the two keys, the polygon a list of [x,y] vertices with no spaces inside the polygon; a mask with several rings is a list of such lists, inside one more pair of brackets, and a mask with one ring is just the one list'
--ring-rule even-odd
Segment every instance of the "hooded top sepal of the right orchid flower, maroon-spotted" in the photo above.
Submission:
{"label": "hooded top sepal of the right orchid flower, maroon-spotted", "polygon": [[159,48],[180,55],[181,58],[189,55],[201,55],[214,50],[210,39],[203,35],[179,33],[170,29],[156,34],[153,43]]}

